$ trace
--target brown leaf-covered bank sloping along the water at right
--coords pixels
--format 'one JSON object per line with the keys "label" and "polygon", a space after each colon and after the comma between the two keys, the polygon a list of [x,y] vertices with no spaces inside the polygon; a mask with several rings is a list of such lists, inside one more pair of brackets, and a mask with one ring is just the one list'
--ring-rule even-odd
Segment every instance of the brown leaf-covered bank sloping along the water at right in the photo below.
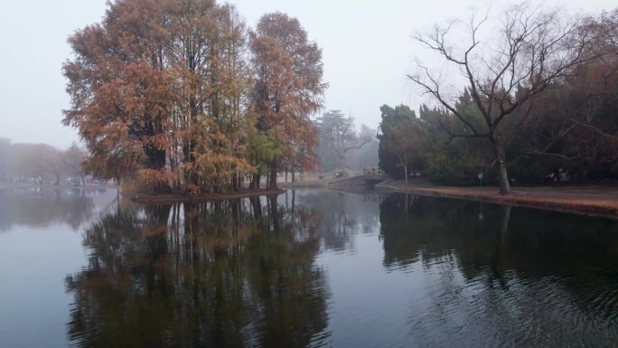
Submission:
{"label": "brown leaf-covered bank sloping along the water at right", "polygon": [[415,181],[408,184],[389,181],[377,187],[401,193],[472,199],[618,219],[618,186],[615,185],[517,187],[510,195],[500,195],[497,187],[443,187]]}

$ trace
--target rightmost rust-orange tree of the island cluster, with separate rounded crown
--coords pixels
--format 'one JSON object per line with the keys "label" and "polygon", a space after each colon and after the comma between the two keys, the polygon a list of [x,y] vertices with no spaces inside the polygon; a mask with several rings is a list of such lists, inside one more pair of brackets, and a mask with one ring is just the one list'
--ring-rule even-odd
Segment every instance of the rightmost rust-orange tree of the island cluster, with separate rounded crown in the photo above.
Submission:
{"label": "rightmost rust-orange tree of the island cluster, with separate rounded crown", "polygon": [[327,87],[322,80],[322,51],[308,41],[298,20],[281,13],[260,18],[249,47],[256,127],[275,144],[268,185],[276,188],[276,174],[282,168],[294,171],[315,165],[317,129],[309,117],[322,108]]}

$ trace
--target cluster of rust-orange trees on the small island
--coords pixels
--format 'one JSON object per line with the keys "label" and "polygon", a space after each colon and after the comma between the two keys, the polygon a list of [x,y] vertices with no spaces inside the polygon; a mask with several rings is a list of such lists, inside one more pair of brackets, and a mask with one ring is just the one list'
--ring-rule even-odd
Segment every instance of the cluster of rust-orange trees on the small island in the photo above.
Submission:
{"label": "cluster of rust-orange trees on the small island", "polygon": [[223,193],[313,169],[322,52],[286,14],[249,29],[233,5],[117,0],[69,39],[63,123],[85,169],[155,192]]}

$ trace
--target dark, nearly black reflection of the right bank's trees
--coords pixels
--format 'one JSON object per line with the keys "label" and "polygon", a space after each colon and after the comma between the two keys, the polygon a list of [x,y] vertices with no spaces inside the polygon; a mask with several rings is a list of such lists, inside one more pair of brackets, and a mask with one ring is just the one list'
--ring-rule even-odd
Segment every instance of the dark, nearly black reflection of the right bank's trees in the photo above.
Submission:
{"label": "dark, nearly black reflection of the right bank's trees", "polygon": [[[618,224],[611,220],[435,197],[407,201],[403,194],[393,195],[380,205],[388,267],[404,266],[421,254],[429,261],[454,255],[470,277],[491,263],[542,277],[575,259],[586,260],[586,265],[593,259],[601,262],[596,256],[602,250],[610,256],[610,245],[600,235],[618,242],[618,234],[612,235]],[[566,246],[571,252],[563,252]]]}

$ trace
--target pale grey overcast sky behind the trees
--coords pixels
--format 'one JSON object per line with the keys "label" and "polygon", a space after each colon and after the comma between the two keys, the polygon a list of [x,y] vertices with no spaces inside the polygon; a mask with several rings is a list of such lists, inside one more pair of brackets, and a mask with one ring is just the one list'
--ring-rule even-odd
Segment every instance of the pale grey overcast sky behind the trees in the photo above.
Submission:
{"label": "pale grey overcast sky behind the trees", "polygon": [[[6,1],[0,12],[0,137],[14,143],[47,143],[65,148],[78,141],[61,125],[69,107],[62,62],[70,57],[68,36],[99,22],[107,0]],[[504,2],[488,0],[231,0],[248,25],[261,14],[285,12],[298,18],[322,48],[324,80],[330,88],[325,109],[341,109],[377,127],[379,107],[399,103],[417,108],[417,92],[407,82],[414,57],[412,36],[435,23],[465,18],[471,7],[497,11]],[[615,0],[531,1],[560,5],[568,12],[612,10]]]}

